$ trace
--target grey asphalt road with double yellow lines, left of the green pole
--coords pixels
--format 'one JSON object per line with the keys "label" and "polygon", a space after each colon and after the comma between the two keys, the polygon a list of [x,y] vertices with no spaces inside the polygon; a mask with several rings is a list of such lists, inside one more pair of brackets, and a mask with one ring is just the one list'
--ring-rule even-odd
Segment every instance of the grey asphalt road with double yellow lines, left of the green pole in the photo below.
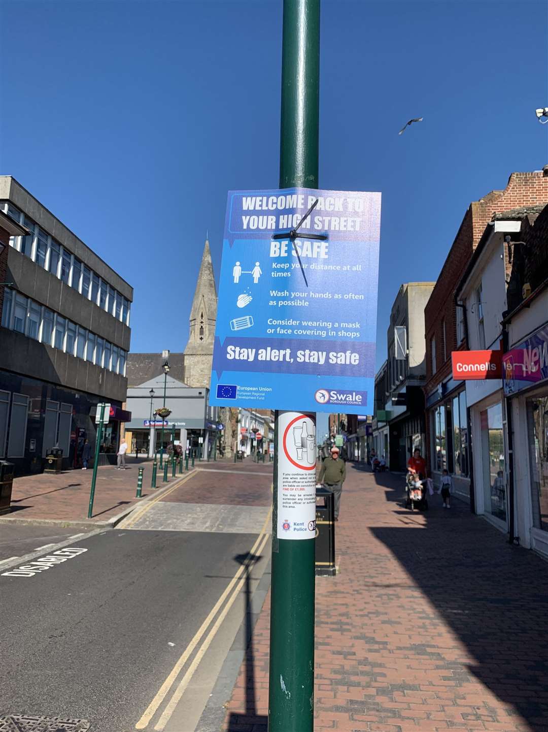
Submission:
{"label": "grey asphalt road with double yellow lines, left of the green pole", "polygon": [[[127,521],[129,528],[76,539],[69,548],[86,551],[34,575],[0,575],[0,617],[10,629],[0,665],[0,720],[1,714],[87,720],[90,732],[132,731],[138,722],[146,730],[195,729],[269,555],[262,531],[268,508],[240,506],[234,517],[233,489],[218,473],[208,479],[211,495],[220,492],[227,501],[217,497],[211,505],[212,522],[203,506],[184,504],[181,486],[169,501],[146,509],[153,521],[143,515]],[[261,484],[255,502],[268,504],[271,477],[246,481]],[[187,493],[195,501],[192,479]],[[162,523],[159,507],[181,515],[179,525],[165,509]],[[237,526],[227,526],[223,510]],[[188,512],[195,518],[190,525]],[[263,559],[244,571],[252,549]],[[168,689],[158,698],[162,684]]]}

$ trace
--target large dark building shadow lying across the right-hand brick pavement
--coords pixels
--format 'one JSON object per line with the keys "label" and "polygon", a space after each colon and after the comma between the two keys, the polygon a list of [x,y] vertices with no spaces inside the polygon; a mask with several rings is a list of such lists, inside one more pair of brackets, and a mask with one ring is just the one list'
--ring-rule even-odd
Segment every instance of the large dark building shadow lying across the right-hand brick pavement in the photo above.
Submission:
{"label": "large dark building shadow lying across the right-hand brick pavement", "polygon": [[[394,476],[376,475],[386,487],[386,499],[402,501],[403,488],[394,488]],[[391,482],[392,485],[389,485]],[[424,647],[411,653],[447,665],[446,681],[458,687],[473,676],[501,702],[514,706],[531,732],[548,729],[548,572],[532,552],[511,546],[504,534],[470,514],[468,505],[452,501],[441,509],[440,496],[430,496],[431,509],[408,515],[416,528],[372,527],[372,534],[391,550],[418,589],[435,608],[431,635]],[[441,619],[441,621],[440,621]],[[446,624],[468,649],[474,661],[468,667],[443,659],[435,635]],[[463,668],[465,671],[463,671]],[[468,671],[466,669],[468,668]],[[489,707],[481,707],[486,714]],[[511,712],[508,712],[510,714]],[[500,710],[492,709],[492,729]],[[505,713],[506,714],[506,713]],[[481,721],[479,714],[470,720]]]}

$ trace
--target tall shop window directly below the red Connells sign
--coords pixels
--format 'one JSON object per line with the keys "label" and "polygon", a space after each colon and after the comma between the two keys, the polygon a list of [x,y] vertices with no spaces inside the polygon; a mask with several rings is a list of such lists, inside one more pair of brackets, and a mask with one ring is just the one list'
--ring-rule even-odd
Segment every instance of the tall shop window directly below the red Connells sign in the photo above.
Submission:
{"label": "tall shop window directly below the red Connells sign", "polygon": [[480,420],[485,511],[495,518],[506,521],[502,404],[499,402],[481,411]]}

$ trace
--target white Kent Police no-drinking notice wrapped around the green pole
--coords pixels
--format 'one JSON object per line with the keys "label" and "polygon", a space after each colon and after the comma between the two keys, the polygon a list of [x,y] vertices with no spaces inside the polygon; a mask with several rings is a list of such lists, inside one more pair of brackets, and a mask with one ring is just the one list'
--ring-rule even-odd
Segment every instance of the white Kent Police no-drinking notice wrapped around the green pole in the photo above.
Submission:
{"label": "white Kent Police no-drinking notice wrapped around the green pole", "polygon": [[316,535],[316,422],[314,414],[278,416],[278,539]]}

